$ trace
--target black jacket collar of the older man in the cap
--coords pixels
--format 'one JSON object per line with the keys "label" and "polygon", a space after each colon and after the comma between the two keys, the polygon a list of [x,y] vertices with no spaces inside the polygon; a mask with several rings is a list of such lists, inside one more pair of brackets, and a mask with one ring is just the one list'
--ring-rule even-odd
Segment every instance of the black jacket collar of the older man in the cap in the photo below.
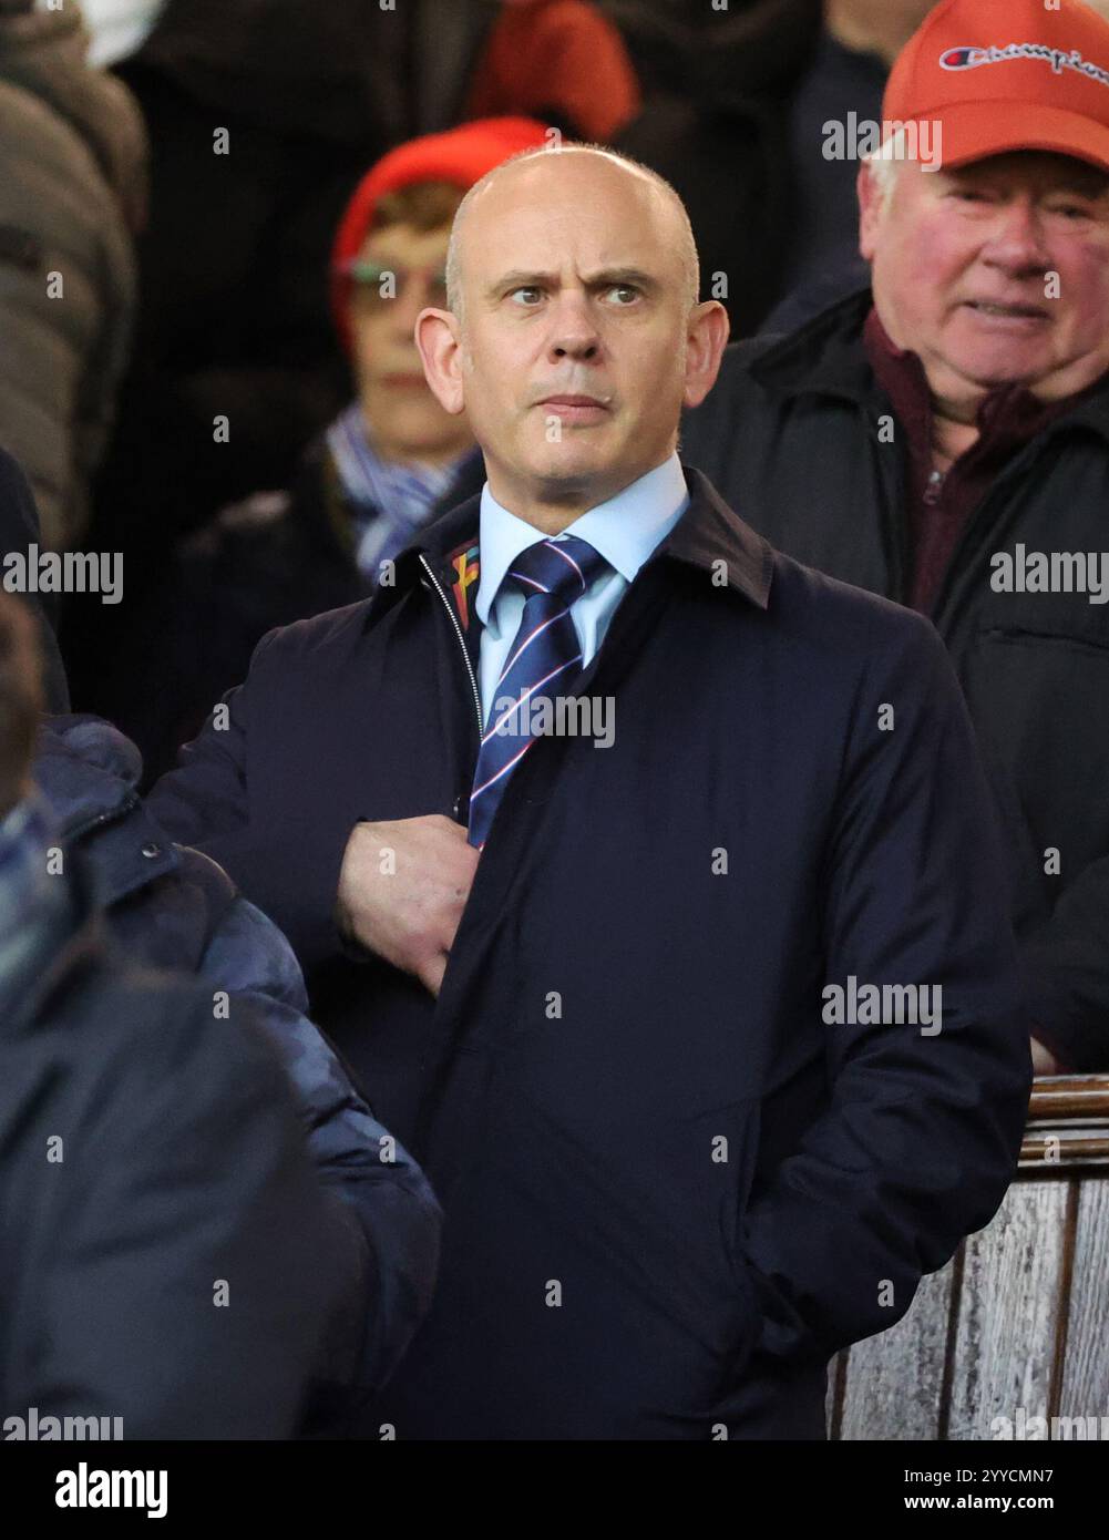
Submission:
{"label": "black jacket collar of the older man in the cap", "polygon": [[[835,396],[873,410],[887,410],[863,342],[873,306],[870,285],[844,296],[787,337],[775,339],[750,365],[752,376],[781,396]],[[1060,413],[1037,437],[1091,428],[1109,442],[1109,374]]]}

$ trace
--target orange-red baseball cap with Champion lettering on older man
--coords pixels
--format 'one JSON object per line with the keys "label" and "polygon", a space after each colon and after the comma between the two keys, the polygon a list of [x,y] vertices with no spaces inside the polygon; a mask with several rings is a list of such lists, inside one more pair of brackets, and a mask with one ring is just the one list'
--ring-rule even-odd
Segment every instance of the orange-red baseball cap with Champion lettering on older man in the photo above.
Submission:
{"label": "orange-red baseball cap with Champion lettering on older man", "polygon": [[886,136],[938,123],[949,169],[1050,149],[1109,171],[1109,22],[1083,0],[941,0],[896,57],[883,119]]}

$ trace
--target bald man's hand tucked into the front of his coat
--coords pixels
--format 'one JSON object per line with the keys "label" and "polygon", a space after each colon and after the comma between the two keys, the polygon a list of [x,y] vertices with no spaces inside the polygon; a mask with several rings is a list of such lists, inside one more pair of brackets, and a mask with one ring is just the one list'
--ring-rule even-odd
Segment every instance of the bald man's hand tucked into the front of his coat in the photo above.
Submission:
{"label": "bald man's hand tucked into the front of his coat", "polygon": [[356,824],[339,873],[336,922],[437,996],[476,869],[465,829],[441,813]]}

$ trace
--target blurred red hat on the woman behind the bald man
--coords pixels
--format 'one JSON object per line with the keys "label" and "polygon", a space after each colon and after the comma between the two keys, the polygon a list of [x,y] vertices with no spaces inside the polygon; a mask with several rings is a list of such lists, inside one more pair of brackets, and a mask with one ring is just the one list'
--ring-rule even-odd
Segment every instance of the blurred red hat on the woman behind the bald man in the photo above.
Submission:
{"label": "blurred red hat on the woman behind the bald man", "polygon": [[485,117],[444,134],[410,139],[382,156],[354,189],[331,251],[331,310],[347,351],[351,350],[351,279],[343,263],[356,257],[370,233],[377,199],[417,182],[451,182],[468,191],[487,171],[521,149],[539,149],[547,129],[530,117]]}

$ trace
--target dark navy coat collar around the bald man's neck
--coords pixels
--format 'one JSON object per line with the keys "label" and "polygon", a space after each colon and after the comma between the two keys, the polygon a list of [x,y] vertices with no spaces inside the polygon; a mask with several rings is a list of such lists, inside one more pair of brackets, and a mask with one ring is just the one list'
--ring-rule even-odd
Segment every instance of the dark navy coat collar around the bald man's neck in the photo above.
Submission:
{"label": "dark navy coat collar around the bald man's neck", "polygon": [[[772,547],[729,508],[707,476],[690,465],[682,465],[682,471],[689,487],[689,508],[650,562],[668,556],[710,574],[724,573],[729,588],[766,610],[773,570]],[[407,547],[397,557],[396,584],[377,588],[368,601],[367,625],[420,581],[427,571],[424,561],[434,570],[442,587],[450,590],[457,579],[451,561],[477,544],[479,521],[481,494],[428,525],[424,539]],[[724,565],[718,567],[718,562]]]}

